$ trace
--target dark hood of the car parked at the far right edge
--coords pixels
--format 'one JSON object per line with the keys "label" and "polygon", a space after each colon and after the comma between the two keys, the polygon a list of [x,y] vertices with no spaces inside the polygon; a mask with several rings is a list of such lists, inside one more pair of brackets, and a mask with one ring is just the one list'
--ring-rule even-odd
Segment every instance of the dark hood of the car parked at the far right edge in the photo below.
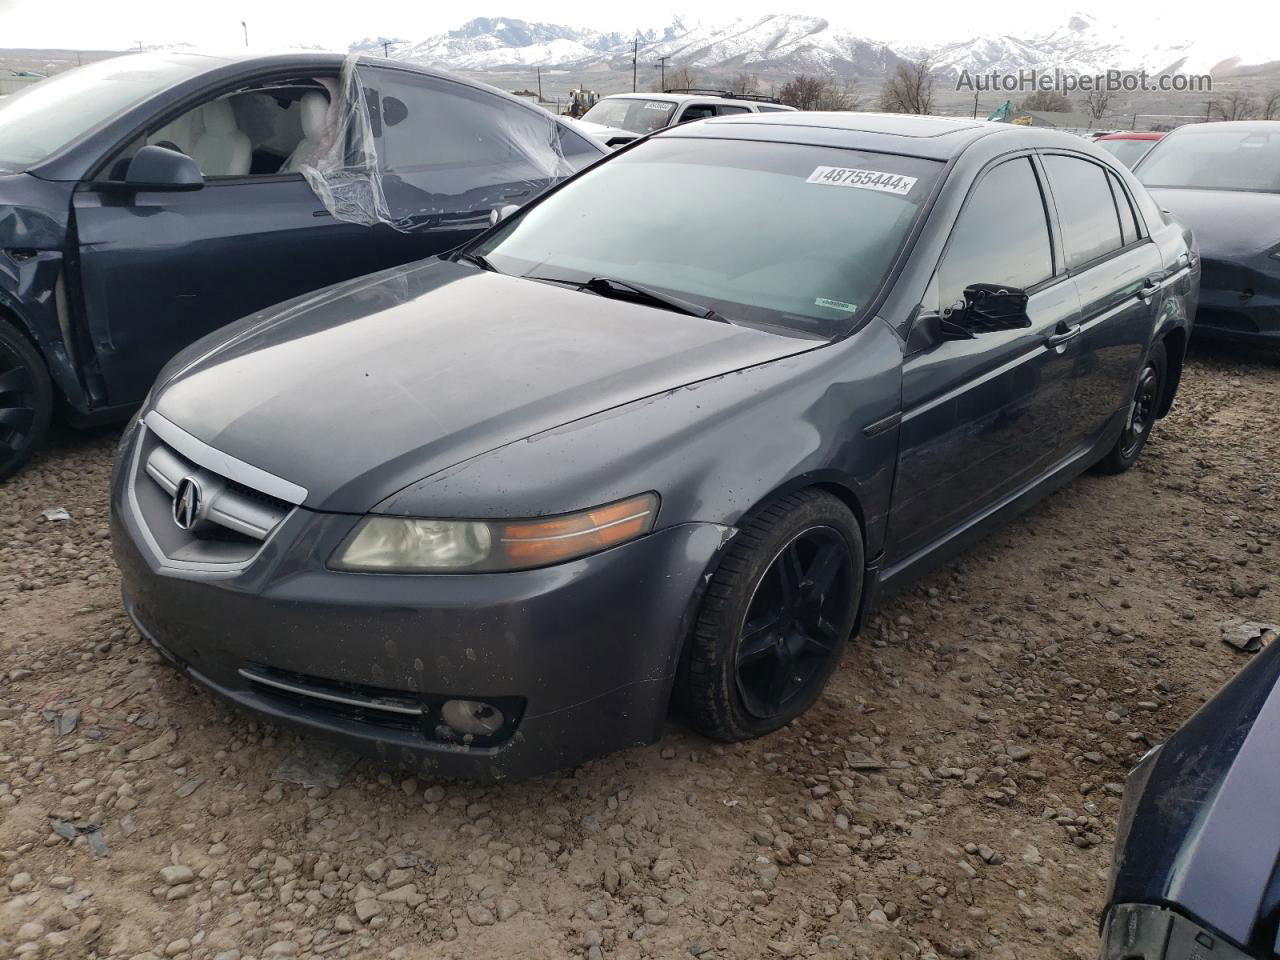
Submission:
{"label": "dark hood of the car parked at the far right edge", "polygon": [[1253,257],[1280,243],[1280,193],[1152,187],[1151,196],[1196,234],[1210,260]]}

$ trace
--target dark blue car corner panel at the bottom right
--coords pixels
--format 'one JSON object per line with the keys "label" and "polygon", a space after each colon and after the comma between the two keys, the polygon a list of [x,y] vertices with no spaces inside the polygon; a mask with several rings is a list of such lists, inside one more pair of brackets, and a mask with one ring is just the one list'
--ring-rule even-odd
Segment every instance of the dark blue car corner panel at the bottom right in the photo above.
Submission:
{"label": "dark blue car corner panel at the bottom right", "polygon": [[1242,946],[1270,928],[1280,895],[1277,682],[1280,643],[1130,774],[1111,904],[1174,905]]}

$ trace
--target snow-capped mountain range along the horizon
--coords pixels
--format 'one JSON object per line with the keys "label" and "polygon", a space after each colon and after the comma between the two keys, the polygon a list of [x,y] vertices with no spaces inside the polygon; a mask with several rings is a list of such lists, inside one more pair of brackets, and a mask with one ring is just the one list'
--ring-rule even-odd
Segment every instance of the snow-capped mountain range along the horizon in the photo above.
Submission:
{"label": "snow-capped mountain range along the horizon", "polygon": [[[936,46],[891,45],[820,17],[773,14],[730,23],[676,19],[664,29],[602,32],[513,18],[480,17],[457,29],[419,41],[394,41],[393,58],[453,69],[590,67],[630,69],[632,40],[650,63],[703,73],[787,70],[842,77],[883,76],[902,59],[928,56],[943,70],[1012,72],[1027,68],[1066,73],[1110,69],[1148,73],[1210,73],[1280,61],[1280,36],[1268,31],[1189,32],[1176,15],[1153,15],[1140,29],[1073,14],[1060,26],[1027,35],[987,35]],[[383,38],[352,44],[355,52],[383,52]]]}

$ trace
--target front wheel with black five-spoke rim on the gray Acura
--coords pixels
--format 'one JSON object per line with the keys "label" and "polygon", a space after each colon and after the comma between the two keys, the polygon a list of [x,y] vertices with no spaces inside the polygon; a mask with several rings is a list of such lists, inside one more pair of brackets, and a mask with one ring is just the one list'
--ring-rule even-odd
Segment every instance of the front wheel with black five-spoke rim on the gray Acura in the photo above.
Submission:
{"label": "front wheel with black five-spoke rim on the gray Acura", "polygon": [[863,593],[863,534],[820,490],[787,494],[724,548],[689,639],[677,698],[716,740],[763,736],[808,710],[840,663]]}

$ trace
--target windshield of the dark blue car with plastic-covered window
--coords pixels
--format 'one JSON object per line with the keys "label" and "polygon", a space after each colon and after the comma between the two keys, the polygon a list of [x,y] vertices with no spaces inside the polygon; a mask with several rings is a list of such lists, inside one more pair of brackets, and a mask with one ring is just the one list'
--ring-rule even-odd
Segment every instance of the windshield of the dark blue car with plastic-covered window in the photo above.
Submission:
{"label": "windshield of the dark blue car with plastic-covered window", "polygon": [[202,58],[138,54],[77,67],[0,99],[0,170],[17,173],[178,81]]}

